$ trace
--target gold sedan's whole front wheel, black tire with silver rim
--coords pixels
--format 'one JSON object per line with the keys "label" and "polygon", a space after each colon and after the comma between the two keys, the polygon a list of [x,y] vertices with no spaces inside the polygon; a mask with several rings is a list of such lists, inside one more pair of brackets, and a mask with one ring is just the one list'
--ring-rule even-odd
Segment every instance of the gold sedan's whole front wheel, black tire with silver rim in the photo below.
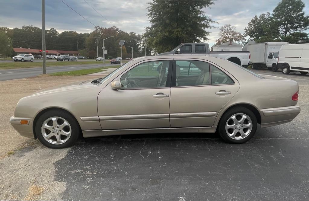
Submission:
{"label": "gold sedan's whole front wheel, black tire with silver rim", "polygon": [[[63,130],[60,131],[60,129],[62,129],[61,124],[65,121],[68,123],[68,126],[64,126]],[[56,122],[57,124],[60,124],[60,126],[56,125]],[[48,129],[43,128],[45,123],[48,126]],[[46,147],[53,149],[70,147],[76,142],[78,136],[81,135],[81,130],[77,120],[70,113],[61,109],[54,109],[43,113],[36,122],[35,131],[36,137],[40,140],[40,142]],[[59,135],[57,135],[56,132],[58,132]],[[50,134],[52,136],[48,137]],[[66,134],[68,137],[61,134]],[[57,142],[57,140],[59,140],[59,142]]]}

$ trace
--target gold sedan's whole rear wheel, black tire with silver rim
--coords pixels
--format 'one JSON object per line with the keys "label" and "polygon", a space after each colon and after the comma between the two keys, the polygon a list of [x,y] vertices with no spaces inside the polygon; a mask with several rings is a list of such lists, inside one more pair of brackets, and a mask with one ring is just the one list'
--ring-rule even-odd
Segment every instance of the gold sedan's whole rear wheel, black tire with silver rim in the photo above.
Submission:
{"label": "gold sedan's whole rear wheel, black tire with silver rim", "polygon": [[[243,122],[238,122],[242,117],[241,115],[244,115],[243,117],[246,118]],[[237,125],[235,121],[231,119],[233,116],[236,117]],[[235,127],[232,126],[233,124]],[[228,129],[226,129],[226,127],[228,127]],[[217,130],[220,137],[227,143],[240,144],[245,143],[249,139],[251,139],[254,136],[256,129],[257,129],[257,119],[254,113],[250,109],[244,107],[235,107],[227,110],[222,115]],[[243,135],[241,134],[241,132]],[[233,134],[235,134],[234,137]]]}

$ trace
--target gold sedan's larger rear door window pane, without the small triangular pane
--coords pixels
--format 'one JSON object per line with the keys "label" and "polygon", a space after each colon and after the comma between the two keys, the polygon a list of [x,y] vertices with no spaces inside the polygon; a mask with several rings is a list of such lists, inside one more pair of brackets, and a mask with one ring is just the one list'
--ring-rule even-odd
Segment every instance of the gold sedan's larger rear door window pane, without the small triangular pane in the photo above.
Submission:
{"label": "gold sedan's larger rear door window pane, without the small triangular pane", "polygon": [[[175,62],[176,87],[199,86],[210,84],[209,63],[194,60],[177,60]],[[175,80],[175,78],[173,79]]]}

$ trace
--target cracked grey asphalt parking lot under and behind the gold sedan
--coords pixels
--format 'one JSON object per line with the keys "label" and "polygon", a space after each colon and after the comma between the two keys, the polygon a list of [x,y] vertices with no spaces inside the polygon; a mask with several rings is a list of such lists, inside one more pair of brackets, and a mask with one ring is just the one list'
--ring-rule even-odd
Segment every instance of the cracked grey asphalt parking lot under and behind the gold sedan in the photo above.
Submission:
{"label": "cracked grey asphalt parking lot under and behind the gold sedan", "polygon": [[309,75],[254,71],[298,82],[302,111],[294,121],[259,128],[244,144],[215,134],[145,134],[54,150],[27,139],[0,159],[0,199],[308,200]]}

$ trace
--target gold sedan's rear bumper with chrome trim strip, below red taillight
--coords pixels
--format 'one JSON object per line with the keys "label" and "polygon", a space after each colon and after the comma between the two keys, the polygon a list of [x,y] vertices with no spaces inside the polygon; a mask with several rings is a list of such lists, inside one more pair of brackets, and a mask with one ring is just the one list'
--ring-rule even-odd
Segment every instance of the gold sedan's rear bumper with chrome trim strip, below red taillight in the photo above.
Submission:
{"label": "gold sedan's rear bumper with chrome trim strip, below red taillight", "polygon": [[292,121],[299,113],[297,105],[279,108],[268,108],[259,110],[261,116],[261,128],[276,126]]}

